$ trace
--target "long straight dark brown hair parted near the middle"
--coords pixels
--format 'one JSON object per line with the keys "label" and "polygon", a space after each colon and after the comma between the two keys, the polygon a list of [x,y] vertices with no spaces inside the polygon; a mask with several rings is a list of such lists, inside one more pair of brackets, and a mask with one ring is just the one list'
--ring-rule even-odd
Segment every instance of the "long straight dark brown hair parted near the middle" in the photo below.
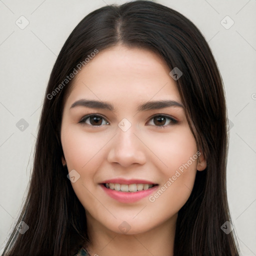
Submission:
{"label": "long straight dark brown hair parted near the middle", "polygon": [[[152,50],[176,81],[186,117],[207,167],[197,171],[190,197],[178,212],[175,256],[237,256],[226,195],[227,129],[222,80],[211,50],[196,26],[179,12],[150,1],[101,7],[85,16],[64,43],[53,66],[39,121],[29,190],[4,255],[73,255],[88,242],[85,211],[62,166],[61,116],[72,79],[66,76],[95,49],[122,43]],[[93,61],[93,60],[92,60]],[[62,83],[62,87],[58,86]],[[60,88],[56,90],[56,87]],[[55,91],[55,93],[52,93]],[[49,96],[50,95],[50,96]]]}

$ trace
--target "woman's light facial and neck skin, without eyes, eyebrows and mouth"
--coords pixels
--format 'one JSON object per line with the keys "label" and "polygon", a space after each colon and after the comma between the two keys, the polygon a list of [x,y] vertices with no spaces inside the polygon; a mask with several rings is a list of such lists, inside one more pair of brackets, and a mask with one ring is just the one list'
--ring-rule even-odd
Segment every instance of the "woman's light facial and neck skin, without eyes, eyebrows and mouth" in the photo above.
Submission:
{"label": "woman's light facial and neck skin, without eyes, eyebrows and mouth", "polygon": [[[196,170],[206,167],[203,153],[153,202],[146,196],[121,203],[100,186],[105,179],[137,178],[160,188],[196,155],[198,149],[182,107],[136,110],[153,100],[182,104],[169,72],[155,53],[118,44],[99,52],[74,78],[61,123],[62,163],[80,175],[71,184],[85,209],[91,255],[173,255],[177,213],[191,193]],[[115,110],[70,108],[82,98],[107,101]],[[89,118],[79,123],[92,113],[103,117],[100,125]],[[166,118],[159,124],[153,116],[161,114],[178,122]],[[123,118],[131,123],[126,131],[118,126]],[[126,233],[118,227],[123,221],[130,227]]]}

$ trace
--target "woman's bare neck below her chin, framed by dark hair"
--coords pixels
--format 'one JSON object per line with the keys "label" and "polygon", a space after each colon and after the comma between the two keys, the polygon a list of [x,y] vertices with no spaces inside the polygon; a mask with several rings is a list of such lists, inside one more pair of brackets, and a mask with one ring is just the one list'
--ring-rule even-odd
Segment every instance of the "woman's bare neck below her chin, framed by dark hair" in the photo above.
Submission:
{"label": "woman's bare neck below her chin, framed by dark hair", "polygon": [[86,248],[91,256],[173,256],[177,214],[150,230],[134,234],[113,232],[88,217],[90,244]]}

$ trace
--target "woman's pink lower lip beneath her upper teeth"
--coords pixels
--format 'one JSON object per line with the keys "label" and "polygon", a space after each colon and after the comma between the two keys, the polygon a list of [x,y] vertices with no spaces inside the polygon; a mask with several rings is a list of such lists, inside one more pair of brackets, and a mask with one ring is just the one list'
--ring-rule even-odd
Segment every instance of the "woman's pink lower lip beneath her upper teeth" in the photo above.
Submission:
{"label": "woman's pink lower lip beneath her upper teeth", "polygon": [[122,192],[122,191],[116,191],[110,188],[106,188],[103,184],[100,184],[100,186],[110,197],[112,197],[113,199],[119,202],[124,202],[124,203],[136,202],[146,196],[149,196],[158,187],[158,185],[155,185],[146,190],[141,190],[137,192]]}

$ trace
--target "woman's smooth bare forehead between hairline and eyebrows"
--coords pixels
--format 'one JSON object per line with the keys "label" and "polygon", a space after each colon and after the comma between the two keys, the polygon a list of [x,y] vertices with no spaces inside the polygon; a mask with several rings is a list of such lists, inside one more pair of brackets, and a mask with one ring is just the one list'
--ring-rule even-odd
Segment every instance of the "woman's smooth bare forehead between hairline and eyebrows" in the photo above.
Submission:
{"label": "woman's smooth bare forehead between hairline and eyebrows", "polygon": [[116,45],[96,54],[74,77],[67,98],[82,97],[118,102],[135,99],[180,101],[170,68],[154,52]]}

